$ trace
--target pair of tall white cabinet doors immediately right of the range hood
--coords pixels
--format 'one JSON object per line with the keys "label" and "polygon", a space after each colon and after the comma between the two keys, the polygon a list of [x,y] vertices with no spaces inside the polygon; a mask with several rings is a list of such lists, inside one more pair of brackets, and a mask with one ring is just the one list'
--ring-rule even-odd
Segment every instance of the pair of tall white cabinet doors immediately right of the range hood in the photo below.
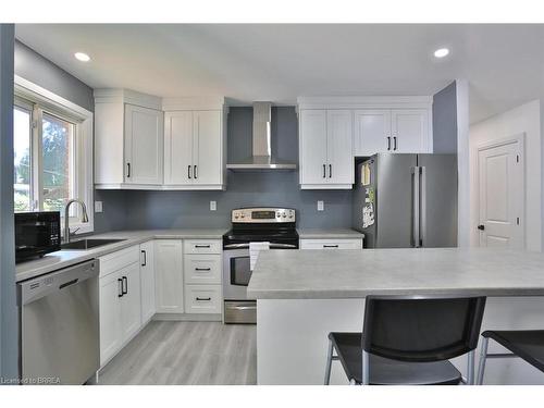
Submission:
{"label": "pair of tall white cabinet doors immediately right of the range hood", "polygon": [[353,114],[349,110],[301,110],[301,188],[351,188]]}

